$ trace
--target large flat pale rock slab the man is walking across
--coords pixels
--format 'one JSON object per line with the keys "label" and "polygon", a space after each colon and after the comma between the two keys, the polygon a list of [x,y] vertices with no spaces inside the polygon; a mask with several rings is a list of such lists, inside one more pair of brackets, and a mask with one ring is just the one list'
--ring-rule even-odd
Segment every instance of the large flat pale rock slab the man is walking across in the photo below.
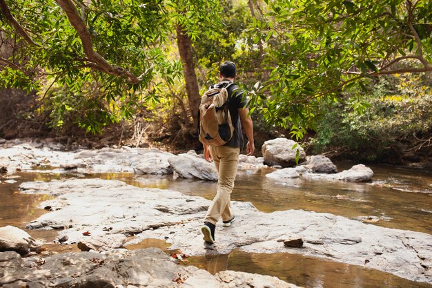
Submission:
{"label": "large flat pale rock slab the man is walking across", "polygon": [[[262,213],[249,202],[233,202],[236,222],[228,228],[219,223],[216,244],[206,246],[199,231],[210,204],[204,198],[99,179],[27,182],[21,187],[26,193],[58,195],[41,204],[53,211],[28,227],[61,228],[59,234],[68,236],[67,243],[120,233],[137,236],[136,242],[166,240],[171,248],[190,255],[229,253],[236,248],[302,253],[432,283],[432,236],[426,233],[377,227],[329,213]],[[302,238],[303,248],[285,247],[286,238]]]}

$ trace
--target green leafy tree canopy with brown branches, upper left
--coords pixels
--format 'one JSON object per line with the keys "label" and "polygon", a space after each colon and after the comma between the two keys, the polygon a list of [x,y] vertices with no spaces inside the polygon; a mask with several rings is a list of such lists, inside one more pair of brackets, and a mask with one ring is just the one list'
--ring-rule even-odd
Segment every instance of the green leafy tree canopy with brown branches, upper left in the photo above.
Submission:
{"label": "green leafy tree canopy with brown branches, upper left", "polygon": [[[0,0],[0,32],[14,51],[0,59],[1,84],[38,90],[48,82],[72,96],[86,90],[114,107],[101,111],[104,119],[132,117],[181,73],[164,52],[177,23],[196,37],[200,26],[217,23],[215,2]],[[180,5],[189,11],[179,13]],[[95,125],[84,124],[88,131]]]}

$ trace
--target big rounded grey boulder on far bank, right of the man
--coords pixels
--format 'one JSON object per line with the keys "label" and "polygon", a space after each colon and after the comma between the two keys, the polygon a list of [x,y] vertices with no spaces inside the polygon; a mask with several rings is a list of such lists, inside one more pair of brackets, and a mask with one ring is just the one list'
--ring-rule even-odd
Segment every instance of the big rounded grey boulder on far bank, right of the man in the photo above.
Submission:
{"label": "big rounded grey boulder on far bank, right of the man", "polygon": [[283,167],[295,166],[295,156],[297,151],[300,153],[299,162],[305,159],[306,153],[300,144],[297,147],[293,146],[297,142],[286,138],[276,138],[264,142],[262,146],[262,155],[264,155],[264,163],[270,166],[281,165]]}

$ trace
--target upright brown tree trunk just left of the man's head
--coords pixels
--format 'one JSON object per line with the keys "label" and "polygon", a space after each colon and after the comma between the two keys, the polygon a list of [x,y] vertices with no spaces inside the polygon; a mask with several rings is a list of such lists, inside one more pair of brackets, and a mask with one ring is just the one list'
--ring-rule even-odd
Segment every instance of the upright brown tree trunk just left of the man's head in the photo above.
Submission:
{"label": "upright brown tree trunk just left of the man's head", "polygon": [[[183,64],[184,79],[186,81],[186,92],[188,93],[188,102],[190,113],[192,113],[194,127],[198,126],[198,108],[201,96],[199,95],[197,75],[195,74],[195,66],[193,64],[192,43],[186,32],[177,25],[177,46],[181,63]],[[186,119],[187,120],[187,119]]]}

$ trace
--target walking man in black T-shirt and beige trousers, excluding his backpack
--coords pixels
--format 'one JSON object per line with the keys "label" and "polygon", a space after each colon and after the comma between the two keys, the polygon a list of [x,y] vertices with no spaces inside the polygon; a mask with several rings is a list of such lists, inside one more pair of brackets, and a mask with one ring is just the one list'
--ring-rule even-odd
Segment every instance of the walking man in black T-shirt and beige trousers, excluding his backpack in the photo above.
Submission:
{"label": "walking man in black T-shirt and beige trousers, excluding his backpack", "polygon": [[[233,62],[225,61],[219,68],[219,84],[234,82],[236,77],[236,67]],[[208,207],[204,226],[201,228],[204,234],[204,241],[208,243],[215,242],[215,228],[219,218],[222,217],[222,226],[229,227],[235,220],[235,215],[230,210],[231,192],[234,188],[235,175],[237,173],[237,164],[239,162],[240,148],[243,146],[244,132],[248,137],[246,144],[247,155],[253,155],[255,146],[253,143],[253,124],[251,117],[248,116],[248,102],[243,99],[242,92],[238,90],[236,84],[228,86],[228,105],[231,115],[231,121],[234,126],[233,137],[222,146],[208,146],[204,144],[204,157],[208,162],[215,162],[218,173],[217,193],[213,202]]]}

